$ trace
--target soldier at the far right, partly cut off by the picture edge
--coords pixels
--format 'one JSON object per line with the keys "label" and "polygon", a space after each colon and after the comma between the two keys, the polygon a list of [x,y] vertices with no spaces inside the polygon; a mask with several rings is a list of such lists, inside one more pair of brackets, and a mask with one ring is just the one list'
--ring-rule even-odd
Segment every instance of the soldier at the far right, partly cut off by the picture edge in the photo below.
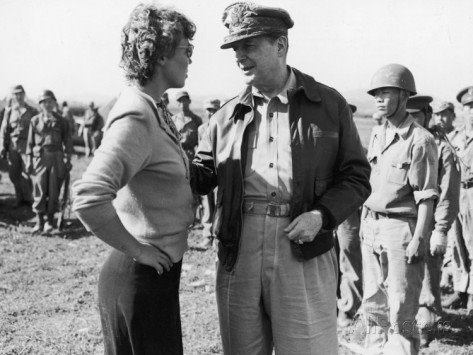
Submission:
{"label": "soldier at the far right, partly cut off by the picture edge", "polygon": [[473,86],[457,95],[463,105],[465,125],[450,133],[461,167],[460,213],[452,226],[453,294],[442,302],[449,308],[473,312]]}

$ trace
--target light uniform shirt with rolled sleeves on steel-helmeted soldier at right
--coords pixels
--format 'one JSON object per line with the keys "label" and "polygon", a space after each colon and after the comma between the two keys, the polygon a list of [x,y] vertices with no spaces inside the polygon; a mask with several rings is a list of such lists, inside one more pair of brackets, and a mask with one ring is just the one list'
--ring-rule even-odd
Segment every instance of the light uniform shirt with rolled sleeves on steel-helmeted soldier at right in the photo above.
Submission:
{"label": "light uniform shirt with rolled sleeves on steel-helmeted soldier at right", "polygon": [[368,149],[373,192],[366,207],[374,212],[417,217],[417,205],[438,197],[438,156],[434,137],[412,116],[391,129],[373,129]]}

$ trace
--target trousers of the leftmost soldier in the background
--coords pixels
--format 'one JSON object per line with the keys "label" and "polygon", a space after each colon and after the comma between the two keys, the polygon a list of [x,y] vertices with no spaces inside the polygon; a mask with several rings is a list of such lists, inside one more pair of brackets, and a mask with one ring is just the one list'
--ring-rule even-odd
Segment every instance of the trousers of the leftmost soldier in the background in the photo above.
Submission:
{"label": "trousers of the leftmost soldier in the background", "polygon": [[33,201],[32,182],[26,171],[26,155],[11,148],[8,152],[8,175],[15,188],[17,201]]}

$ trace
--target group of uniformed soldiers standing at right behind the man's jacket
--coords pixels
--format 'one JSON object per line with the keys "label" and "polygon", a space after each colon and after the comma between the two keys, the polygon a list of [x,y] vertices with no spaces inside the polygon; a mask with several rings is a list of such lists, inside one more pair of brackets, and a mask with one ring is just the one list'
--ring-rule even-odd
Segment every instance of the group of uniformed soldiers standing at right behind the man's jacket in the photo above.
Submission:
{"label": "group of uniformed soldiers standing at right behind the man's jacket", "polygon": [[[391,89],[399,99],[388,110]],[[433,339],[442,308],[473,314],[473,86],[457,95],[464,123],[456,125],[455,106],[432,107],[403,66],[378,70],[368,94],[377,107],[367,153],[373,191],[336,231],[338,324],[361,315],[373,353],[417,353]],[[450,280],[454,292],[442,302]]]}

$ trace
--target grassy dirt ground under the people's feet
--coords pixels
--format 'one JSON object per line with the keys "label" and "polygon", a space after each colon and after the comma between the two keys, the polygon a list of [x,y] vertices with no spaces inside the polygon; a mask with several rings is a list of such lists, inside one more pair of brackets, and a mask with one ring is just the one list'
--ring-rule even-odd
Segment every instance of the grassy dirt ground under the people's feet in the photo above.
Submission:
{"label": "grassy dirt ground under the people's feet", "polygon": [[[89,160],[76,157],[72,180]],[[109,247],[87,233],[74,215],[61,232],[32,235],[33,214],[14,208],[5,172],[0,181],[0,354],[101,354],[97,280]],[[199,250],[190,233],[183,262],[181,316],[185,354],[221,354],[214,295],[215,253]],[[473,320],[447,311],[423,354],[473,354]],[[339,329],[339,339],[361,344],[363,326]],[[340,345],[340,354],[353,354]],[[251,355],[251,354],[248,354]],[[301,354],[303,355],[303,354]]]}

